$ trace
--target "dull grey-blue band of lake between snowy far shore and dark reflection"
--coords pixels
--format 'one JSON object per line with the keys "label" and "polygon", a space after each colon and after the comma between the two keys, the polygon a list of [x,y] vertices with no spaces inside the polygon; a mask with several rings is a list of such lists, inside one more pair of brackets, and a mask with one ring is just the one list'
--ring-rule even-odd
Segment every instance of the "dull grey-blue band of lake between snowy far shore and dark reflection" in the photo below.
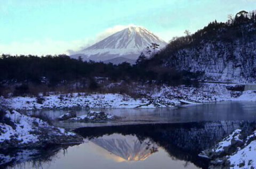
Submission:
{"label": "dull grey-blue band of lake between snowy far shore and dark reflection", "polygon": [[[107,108],[93,109],[104,111],[123,119],[106,123],[66,123],[55,122],[62,128],[76,129],[86,126],[106,126],[125,124],[151,124],[151,123],[185,123],[221,120],[256,120],[255,102],[221,102],[218,104],[198,104],[179,108],[149,108],[149,109],[122,109]],[[75,111],[77,116],[85,114],[88,109]],[[27,112],[28,114],[42,114],[54,120],[67,110]]]}

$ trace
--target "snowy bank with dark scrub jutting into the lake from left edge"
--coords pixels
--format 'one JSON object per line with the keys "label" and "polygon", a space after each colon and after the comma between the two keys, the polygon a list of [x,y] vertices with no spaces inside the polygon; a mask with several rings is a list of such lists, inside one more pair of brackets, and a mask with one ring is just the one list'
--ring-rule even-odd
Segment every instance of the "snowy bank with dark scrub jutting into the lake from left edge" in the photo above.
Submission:
{"label": "snowy bank with dark scrub jutting into the lake from left edge", "polygon": [[56,128],[17,111],[5,111],[0,121],[0,149],[44,147],[82,140],[82,137],[75,133]]}

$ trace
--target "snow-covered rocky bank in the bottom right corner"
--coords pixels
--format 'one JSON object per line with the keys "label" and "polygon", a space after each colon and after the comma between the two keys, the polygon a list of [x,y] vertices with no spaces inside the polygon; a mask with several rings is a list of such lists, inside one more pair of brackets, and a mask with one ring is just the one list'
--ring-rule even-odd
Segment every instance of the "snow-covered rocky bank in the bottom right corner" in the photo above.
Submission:
{"label": "snow-covered rocky bank in the bottom right corner", "polygon": [[211,159],[210,168],[254,168],[256,166],[256,131],[249,136],[236,129],[211,149],[199,154]]}

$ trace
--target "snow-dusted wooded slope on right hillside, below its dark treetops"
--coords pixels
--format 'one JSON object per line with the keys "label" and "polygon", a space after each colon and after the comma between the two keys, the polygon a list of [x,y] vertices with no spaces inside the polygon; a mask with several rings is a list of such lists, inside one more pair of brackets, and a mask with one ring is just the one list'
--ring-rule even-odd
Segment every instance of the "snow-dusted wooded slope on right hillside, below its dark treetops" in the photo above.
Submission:
{"label": "snow-dusted wooded slope on right hillside, below its dark treetops", "polygon": [[[243,36],[225,40],[234,30]],[[169,53],[169,45],[162,52],[166,56],[163,65],[204,72],[206,81],[255,83],[255,32],[255,24],[244,24],[237,28],[219,29],[218,38],[200,37],[193,46],[183,46],[173,53]]]}

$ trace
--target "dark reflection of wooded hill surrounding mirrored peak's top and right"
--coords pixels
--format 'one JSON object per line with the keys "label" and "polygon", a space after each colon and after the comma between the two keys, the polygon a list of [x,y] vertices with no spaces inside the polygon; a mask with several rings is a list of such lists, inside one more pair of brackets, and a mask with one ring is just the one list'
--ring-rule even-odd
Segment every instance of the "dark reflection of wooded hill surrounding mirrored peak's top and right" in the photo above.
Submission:
{"label": "dark reflection of wooded hill surrounding mirrored peak's top and right", "polygon": [[113,133],[119,133],[124,136],[135,135],[139,140],[149,138],[158,146],[163,147],[172,159],[186,160],[199,167],[207,168],[205,159],[198,157],[199,152],[214,146],[215,143],[238,128],[251,132],[255,128],[255,123],[220,121],[141,124],[81,128],[77,129],[76,132],[85,138],[97,138]]}

